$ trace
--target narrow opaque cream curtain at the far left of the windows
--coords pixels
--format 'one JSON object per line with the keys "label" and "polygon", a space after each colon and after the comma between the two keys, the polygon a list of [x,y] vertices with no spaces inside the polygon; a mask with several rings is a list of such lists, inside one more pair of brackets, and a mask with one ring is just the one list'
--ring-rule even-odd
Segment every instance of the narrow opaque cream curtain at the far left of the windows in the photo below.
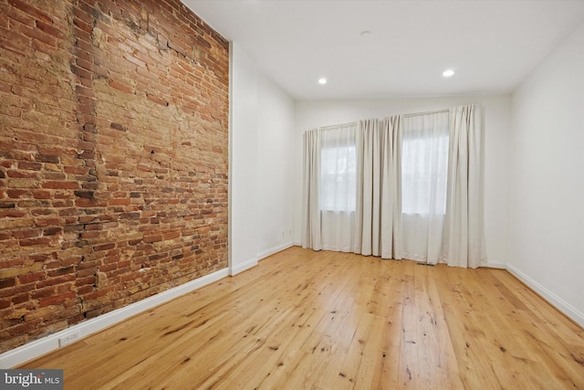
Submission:
{"label": "narrow opaque cream curtain at the far left of the windows", "polygon": [[320,241],[320,207],[318,189],[320,186],[320,132],[309,130],[303,135],[302,185],[302,248],[322,249]]}

